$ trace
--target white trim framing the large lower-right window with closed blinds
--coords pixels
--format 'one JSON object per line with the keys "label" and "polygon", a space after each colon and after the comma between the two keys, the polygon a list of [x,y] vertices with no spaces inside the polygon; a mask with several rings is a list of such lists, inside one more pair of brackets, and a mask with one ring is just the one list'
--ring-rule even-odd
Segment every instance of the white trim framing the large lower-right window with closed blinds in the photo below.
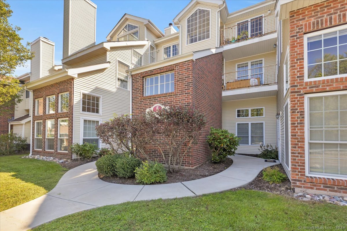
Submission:
{"label": "white trim framing the large lower-right window with closed blinds", "polygon": [[[313,94],[305,94],[304,97],[304,110],[305,110],[305,175],[311,176],[311,177],[324,177],[324,178],[333,178],[333,179],[342,179],[347,180],[347,177],[338,177],[338,176],[327,176],[327,175],[316,175],[316,174],[310,174],[308,169],[310,166],[309,163],[309,157],[308,157],[308,98],[310,97],[317,97],[317,96],[332,96],[332,95],[342,95],[347,94],[347,90],[343,91],[331,91],[331,92],[319,92],[319,93],[313,93]],[[347,143],[347,141],[339,141],[342,143]]]}

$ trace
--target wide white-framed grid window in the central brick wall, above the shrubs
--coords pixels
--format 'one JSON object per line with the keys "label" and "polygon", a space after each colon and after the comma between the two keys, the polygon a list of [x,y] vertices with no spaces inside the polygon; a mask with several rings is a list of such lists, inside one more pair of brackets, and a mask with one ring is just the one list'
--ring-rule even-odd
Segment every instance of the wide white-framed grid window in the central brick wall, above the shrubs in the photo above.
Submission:
{"label": "wide white-framed grid window in the central brick wall, above the shrubs", "polygon": [[175,72],[166,72],[145,78],[145,96],[175,91]]}

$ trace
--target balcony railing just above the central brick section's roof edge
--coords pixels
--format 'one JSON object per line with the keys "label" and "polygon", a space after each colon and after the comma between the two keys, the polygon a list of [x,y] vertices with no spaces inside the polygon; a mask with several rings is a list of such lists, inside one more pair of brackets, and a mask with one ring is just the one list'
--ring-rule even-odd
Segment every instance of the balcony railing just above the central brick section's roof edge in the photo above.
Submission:
{"label": "balcony railing just above the central brick section's roof edge", "polygon": [[149,64],[149,63],[154,63],[154,62],[159,62],[164,59],[170,59],[172,57],[175,57],[179,55],[179,45],[171,45],[168,47],[163,47],[158,50],[154,50],[151,52],[146,52],[143,54],[143,57],[145,57],[145,60],[143,62],[143,65]]}

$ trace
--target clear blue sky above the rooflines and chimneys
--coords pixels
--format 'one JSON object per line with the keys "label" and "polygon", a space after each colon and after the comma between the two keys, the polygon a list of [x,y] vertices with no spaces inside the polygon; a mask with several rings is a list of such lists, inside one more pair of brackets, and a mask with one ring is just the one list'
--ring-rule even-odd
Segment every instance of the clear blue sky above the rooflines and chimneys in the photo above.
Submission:
{"label": "clear blue sky above the rooflines and chimneys", "polygon": [[[106,36],[125,14],[151,19],[162,31],[172,19],[190,2],[189,0],[142,0],[142,1],[111,1],[92,0],[96,10],[96,43],[106,41]],[[229,12],[254,5],[261,0],[227,0]],[[19,35],[22,43],[32,42],[39,36],[53,41],[55,46],[55,62],[61,64],[62,32],[63,32],[63,1],[62,0],[8,0],[13,10],[10,23],[22,28]],[[18,67],[15,75],[29,72],[27,67]]]}

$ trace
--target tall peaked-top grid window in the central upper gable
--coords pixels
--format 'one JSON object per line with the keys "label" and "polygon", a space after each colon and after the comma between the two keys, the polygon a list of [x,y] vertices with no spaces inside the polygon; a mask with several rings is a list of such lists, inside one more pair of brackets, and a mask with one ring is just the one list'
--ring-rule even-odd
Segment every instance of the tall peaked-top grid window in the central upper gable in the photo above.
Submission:
{"label": "tall peaked-top grid window in the central upper gable", "polygon": [[187,45],[210,38],[211,11],[197,9],[187,18]]}

